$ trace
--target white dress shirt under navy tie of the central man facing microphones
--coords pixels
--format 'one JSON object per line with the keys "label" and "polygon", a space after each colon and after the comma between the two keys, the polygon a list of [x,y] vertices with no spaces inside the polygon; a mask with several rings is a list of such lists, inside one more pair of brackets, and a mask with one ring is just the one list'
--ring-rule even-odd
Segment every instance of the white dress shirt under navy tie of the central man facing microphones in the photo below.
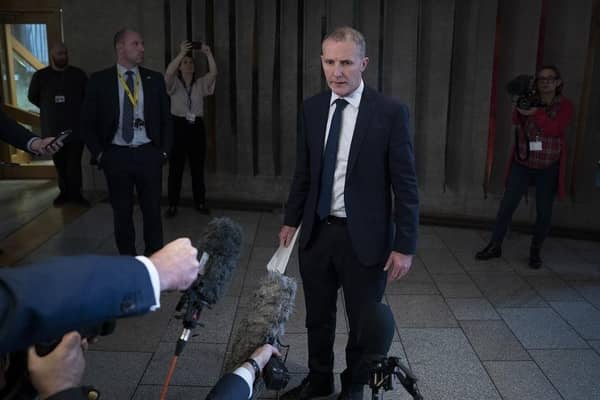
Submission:
{"label": "white dress shirt under navy tie of the central man facing microphones", "polygon": [[325,128],[325,143],[323,149],[327,145],[329,137],[329,128],[335,108],[335,101],[343,98],[348,102],[342,113],[342,126],[340,129],[340,141],[338,144],[337,159],[335,162],[335,172],[333,175],[333,189],[331,192],[331,209],[329,214],[336,217],[346,218],[346,205],[344,203],[344,187],[346,185],[346,168],[348,167],[348,157],[350,156],[350,146],[354,137],[354,127],[356,125],[356,117],[358,116],[358,106],[365,88],[364,82],[361,80],[360,85],[356,90],[348,96],[340,97],[331,92],[331,100],[329,101],[329,117],[327,118],[327,126]]}

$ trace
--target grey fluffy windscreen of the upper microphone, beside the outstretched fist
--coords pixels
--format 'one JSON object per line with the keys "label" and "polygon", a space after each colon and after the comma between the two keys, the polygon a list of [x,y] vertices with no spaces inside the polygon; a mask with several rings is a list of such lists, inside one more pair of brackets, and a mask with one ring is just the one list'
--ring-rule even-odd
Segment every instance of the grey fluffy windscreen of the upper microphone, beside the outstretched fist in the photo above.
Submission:
{"label": "grey fluffy windscreen of the upper microphone, beside the outstretched fist", "polygon": [[198,253],[209,255],[198,293],[208,304],[215,304],[231,281],[240,258],[242,229],[226,217],[214,218],[198,242]]}

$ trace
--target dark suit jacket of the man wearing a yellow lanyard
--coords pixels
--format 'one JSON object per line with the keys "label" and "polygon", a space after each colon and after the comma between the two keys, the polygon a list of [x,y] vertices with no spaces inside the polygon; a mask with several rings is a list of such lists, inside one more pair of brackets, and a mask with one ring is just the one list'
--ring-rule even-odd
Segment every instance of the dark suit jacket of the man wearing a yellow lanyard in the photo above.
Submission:
{"label": "dark suit jacket of the man wearing a yellow lanyard", "polygon": [[[144,122],[152,143],[169,154],[172,121],[169,97],[162,74],[138,67],[144,90]],[[127,101],[127,98],[125,98]],[[88,81],[81,116],[81,135],[94,159],[112,143],[119,126],[117,67],[92,74]]]}

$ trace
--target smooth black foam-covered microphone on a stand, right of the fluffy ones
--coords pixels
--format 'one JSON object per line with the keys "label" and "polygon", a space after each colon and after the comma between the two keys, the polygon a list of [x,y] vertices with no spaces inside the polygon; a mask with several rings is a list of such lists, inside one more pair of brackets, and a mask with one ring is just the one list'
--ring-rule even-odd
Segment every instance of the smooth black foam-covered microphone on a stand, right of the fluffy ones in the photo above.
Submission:
{"label": "smooth black foam-covered microphone on a stand, right of the fluffy ones", "polygon": [[363,365],[369,372],[372,399],[379,399],[382,388],[392,390],[392,376],[395,376],[413,399],[422,400],[412,371],[398,357],[387,357],[395,325],[394,315],[387,304],[371,303],[363,308],[358,343],[364,349]]}

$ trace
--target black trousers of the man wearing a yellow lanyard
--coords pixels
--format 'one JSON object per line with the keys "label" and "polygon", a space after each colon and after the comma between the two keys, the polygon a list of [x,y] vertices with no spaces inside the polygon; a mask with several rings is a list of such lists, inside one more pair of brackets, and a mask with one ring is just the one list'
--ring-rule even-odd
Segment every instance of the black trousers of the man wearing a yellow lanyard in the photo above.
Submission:
{"label": "black trousers of the man wearing a yellow lanyard", "polygon": [[144,254],[163,246],[160,197],[162,194],[162,151],[152,144],[136,148],[111,145],[101,164],[113,209],[115,239],[120,254],[137,255],[133,224],[134,190],[144,220]]}

